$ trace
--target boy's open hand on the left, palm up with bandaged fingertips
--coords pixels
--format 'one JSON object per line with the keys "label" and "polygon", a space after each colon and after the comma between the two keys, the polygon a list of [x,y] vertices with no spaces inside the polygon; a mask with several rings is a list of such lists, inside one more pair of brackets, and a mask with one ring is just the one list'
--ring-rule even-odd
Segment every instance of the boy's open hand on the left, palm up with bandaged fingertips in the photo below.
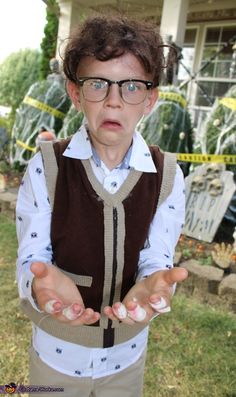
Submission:
{"label": "boy's open hand on the left, palm up with bandaged fingertips", "polygon": [[70,325],[89,325],[99,320],[100,313],[85,309],[75,283],[56,266],[34,262],[30,270],[34,274],[32,294],[40,310]]}

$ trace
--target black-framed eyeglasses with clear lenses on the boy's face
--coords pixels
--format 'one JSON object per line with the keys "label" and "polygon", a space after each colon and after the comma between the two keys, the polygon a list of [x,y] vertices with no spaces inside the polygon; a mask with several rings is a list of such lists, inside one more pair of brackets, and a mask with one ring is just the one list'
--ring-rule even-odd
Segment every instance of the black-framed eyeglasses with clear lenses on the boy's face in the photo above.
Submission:
{"label": "black-framed eyeglasses with clear lenses on the boy's face", "polygon": [[102,77],[81,77],[77,82],[82,87],[84,99],[89,102],[103,101],[109,95],[111,85],[118,84],[123,101],[138,105],[145,101],[148,90],[153,88],[151,81],[139,79],[113,81]]}

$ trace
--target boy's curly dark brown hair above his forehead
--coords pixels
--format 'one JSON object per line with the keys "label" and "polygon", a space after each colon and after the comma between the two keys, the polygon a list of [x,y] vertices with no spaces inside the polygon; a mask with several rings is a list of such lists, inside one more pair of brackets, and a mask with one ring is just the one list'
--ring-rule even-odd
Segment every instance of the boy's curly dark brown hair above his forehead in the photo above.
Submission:
{"label": "boy's curly dark brown hair above his forehead", "polygon": [[163,41],[157,27],[147,22],[119,16],[88,18],[71,35],[65,47],[63,70],[66,77],[77,82],[81,60],[95,57],[99,61],[132,53],[158,86],[164,64]]}

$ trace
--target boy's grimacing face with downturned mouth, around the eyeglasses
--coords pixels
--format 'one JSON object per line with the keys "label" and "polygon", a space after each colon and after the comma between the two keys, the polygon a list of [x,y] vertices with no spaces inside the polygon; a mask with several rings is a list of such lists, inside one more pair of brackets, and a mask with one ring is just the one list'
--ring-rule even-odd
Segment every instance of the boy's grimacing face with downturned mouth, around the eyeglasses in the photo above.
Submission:
{"label": "boy's grimacing face with downturned mouth, around the eyeglasses", "polygon": [[[100,77],[112,81],[150,80],[138,59],[130,53],[104,62],[91,57],[84,58],[77,76]],[[157,99],[157,89],[149,89],[143,102],[128,104],[121,98],[117,84],[112,84],[108,96],[99,102],[85,99],[82,87],[72,82],[68,83],[68,92],[76,108],[81,109],[87,118],[94,146],[124,147],[124,150],[127,150],[132,142],[138,121],[151,111]]]}

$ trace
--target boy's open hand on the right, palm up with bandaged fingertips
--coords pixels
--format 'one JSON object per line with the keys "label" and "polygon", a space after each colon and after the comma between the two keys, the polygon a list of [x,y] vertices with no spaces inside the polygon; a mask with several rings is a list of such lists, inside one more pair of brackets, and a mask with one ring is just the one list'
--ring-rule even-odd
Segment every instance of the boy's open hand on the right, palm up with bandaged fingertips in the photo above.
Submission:
{"label": "boy's open hand on the right, palm up with bandaged fingertips", "polygon": [[137,282],[125,296],[123,302],[116,302],[104,308],[104,313],[111,320],[125,324],[148,323],[158,314],[171,310],[170,301],[175,283],[184,281],[187,270],[176,267],[160,270]]}

